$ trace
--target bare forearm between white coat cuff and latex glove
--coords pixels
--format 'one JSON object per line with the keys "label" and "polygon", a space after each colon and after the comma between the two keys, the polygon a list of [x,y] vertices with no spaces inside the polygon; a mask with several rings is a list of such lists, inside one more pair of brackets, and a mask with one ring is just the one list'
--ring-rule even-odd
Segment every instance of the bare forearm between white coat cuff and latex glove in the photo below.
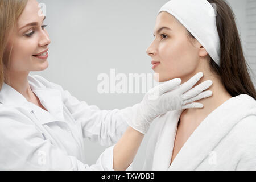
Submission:
{"label": "bare forearm between white coat cuff and latex glove", "polygon": [[132,127],[128,127],[122,138],[115,144],[113,151],[113,169],[124,171],[133,162],[133,159],[141,145],[144,134]]}

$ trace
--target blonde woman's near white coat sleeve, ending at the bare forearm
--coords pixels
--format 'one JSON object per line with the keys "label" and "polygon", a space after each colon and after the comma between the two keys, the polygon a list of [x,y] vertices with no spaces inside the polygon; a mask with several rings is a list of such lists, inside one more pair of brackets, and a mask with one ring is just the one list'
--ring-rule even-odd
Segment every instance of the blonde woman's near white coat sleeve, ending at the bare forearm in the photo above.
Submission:
{"label": "blonde woman's near white coat sleeve, ending at the bare forearm", "polygon": [[[9,111],[7,111],[9,112]],[[0,113],[0,169],[2,170],[113,170],[113,146],[89,166],[67,155],[16,113]]]}

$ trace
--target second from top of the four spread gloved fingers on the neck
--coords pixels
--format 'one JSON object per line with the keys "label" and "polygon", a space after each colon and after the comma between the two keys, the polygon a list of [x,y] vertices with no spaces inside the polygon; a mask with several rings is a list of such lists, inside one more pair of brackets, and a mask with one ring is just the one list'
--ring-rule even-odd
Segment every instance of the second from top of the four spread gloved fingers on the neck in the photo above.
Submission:
{"label": "second from top of the four spread gloved fingers on the neck", "polygon": [[212,84],[213,84],[212,80],[204,81],[201,84],[195,86],[195,88],[192,88],[187,92],[185,92],[184,94],[182,94],[181,98],[183,98],[184,100],[193,98],[198,94],[200,94],[201,92],[203,92],[204,90],[208,89],[210,86],[212,86]]}

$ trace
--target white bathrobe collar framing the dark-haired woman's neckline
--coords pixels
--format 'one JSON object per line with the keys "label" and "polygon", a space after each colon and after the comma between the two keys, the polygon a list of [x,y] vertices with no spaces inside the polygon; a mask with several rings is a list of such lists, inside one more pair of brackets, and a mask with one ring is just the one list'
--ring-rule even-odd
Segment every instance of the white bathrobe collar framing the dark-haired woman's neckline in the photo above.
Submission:
{"label": "white bathrobe collar framing the dark-haired woman's neckline", "polygon": [[241,119],[256,115],[256,101],[246,95],[230,98],[210,113],[184,143],[174,161],[172,150],[182,111],[171,111],[162,115],[164,122],[159,132],[152,170],[194,170],[210,154],[213,148]]}

